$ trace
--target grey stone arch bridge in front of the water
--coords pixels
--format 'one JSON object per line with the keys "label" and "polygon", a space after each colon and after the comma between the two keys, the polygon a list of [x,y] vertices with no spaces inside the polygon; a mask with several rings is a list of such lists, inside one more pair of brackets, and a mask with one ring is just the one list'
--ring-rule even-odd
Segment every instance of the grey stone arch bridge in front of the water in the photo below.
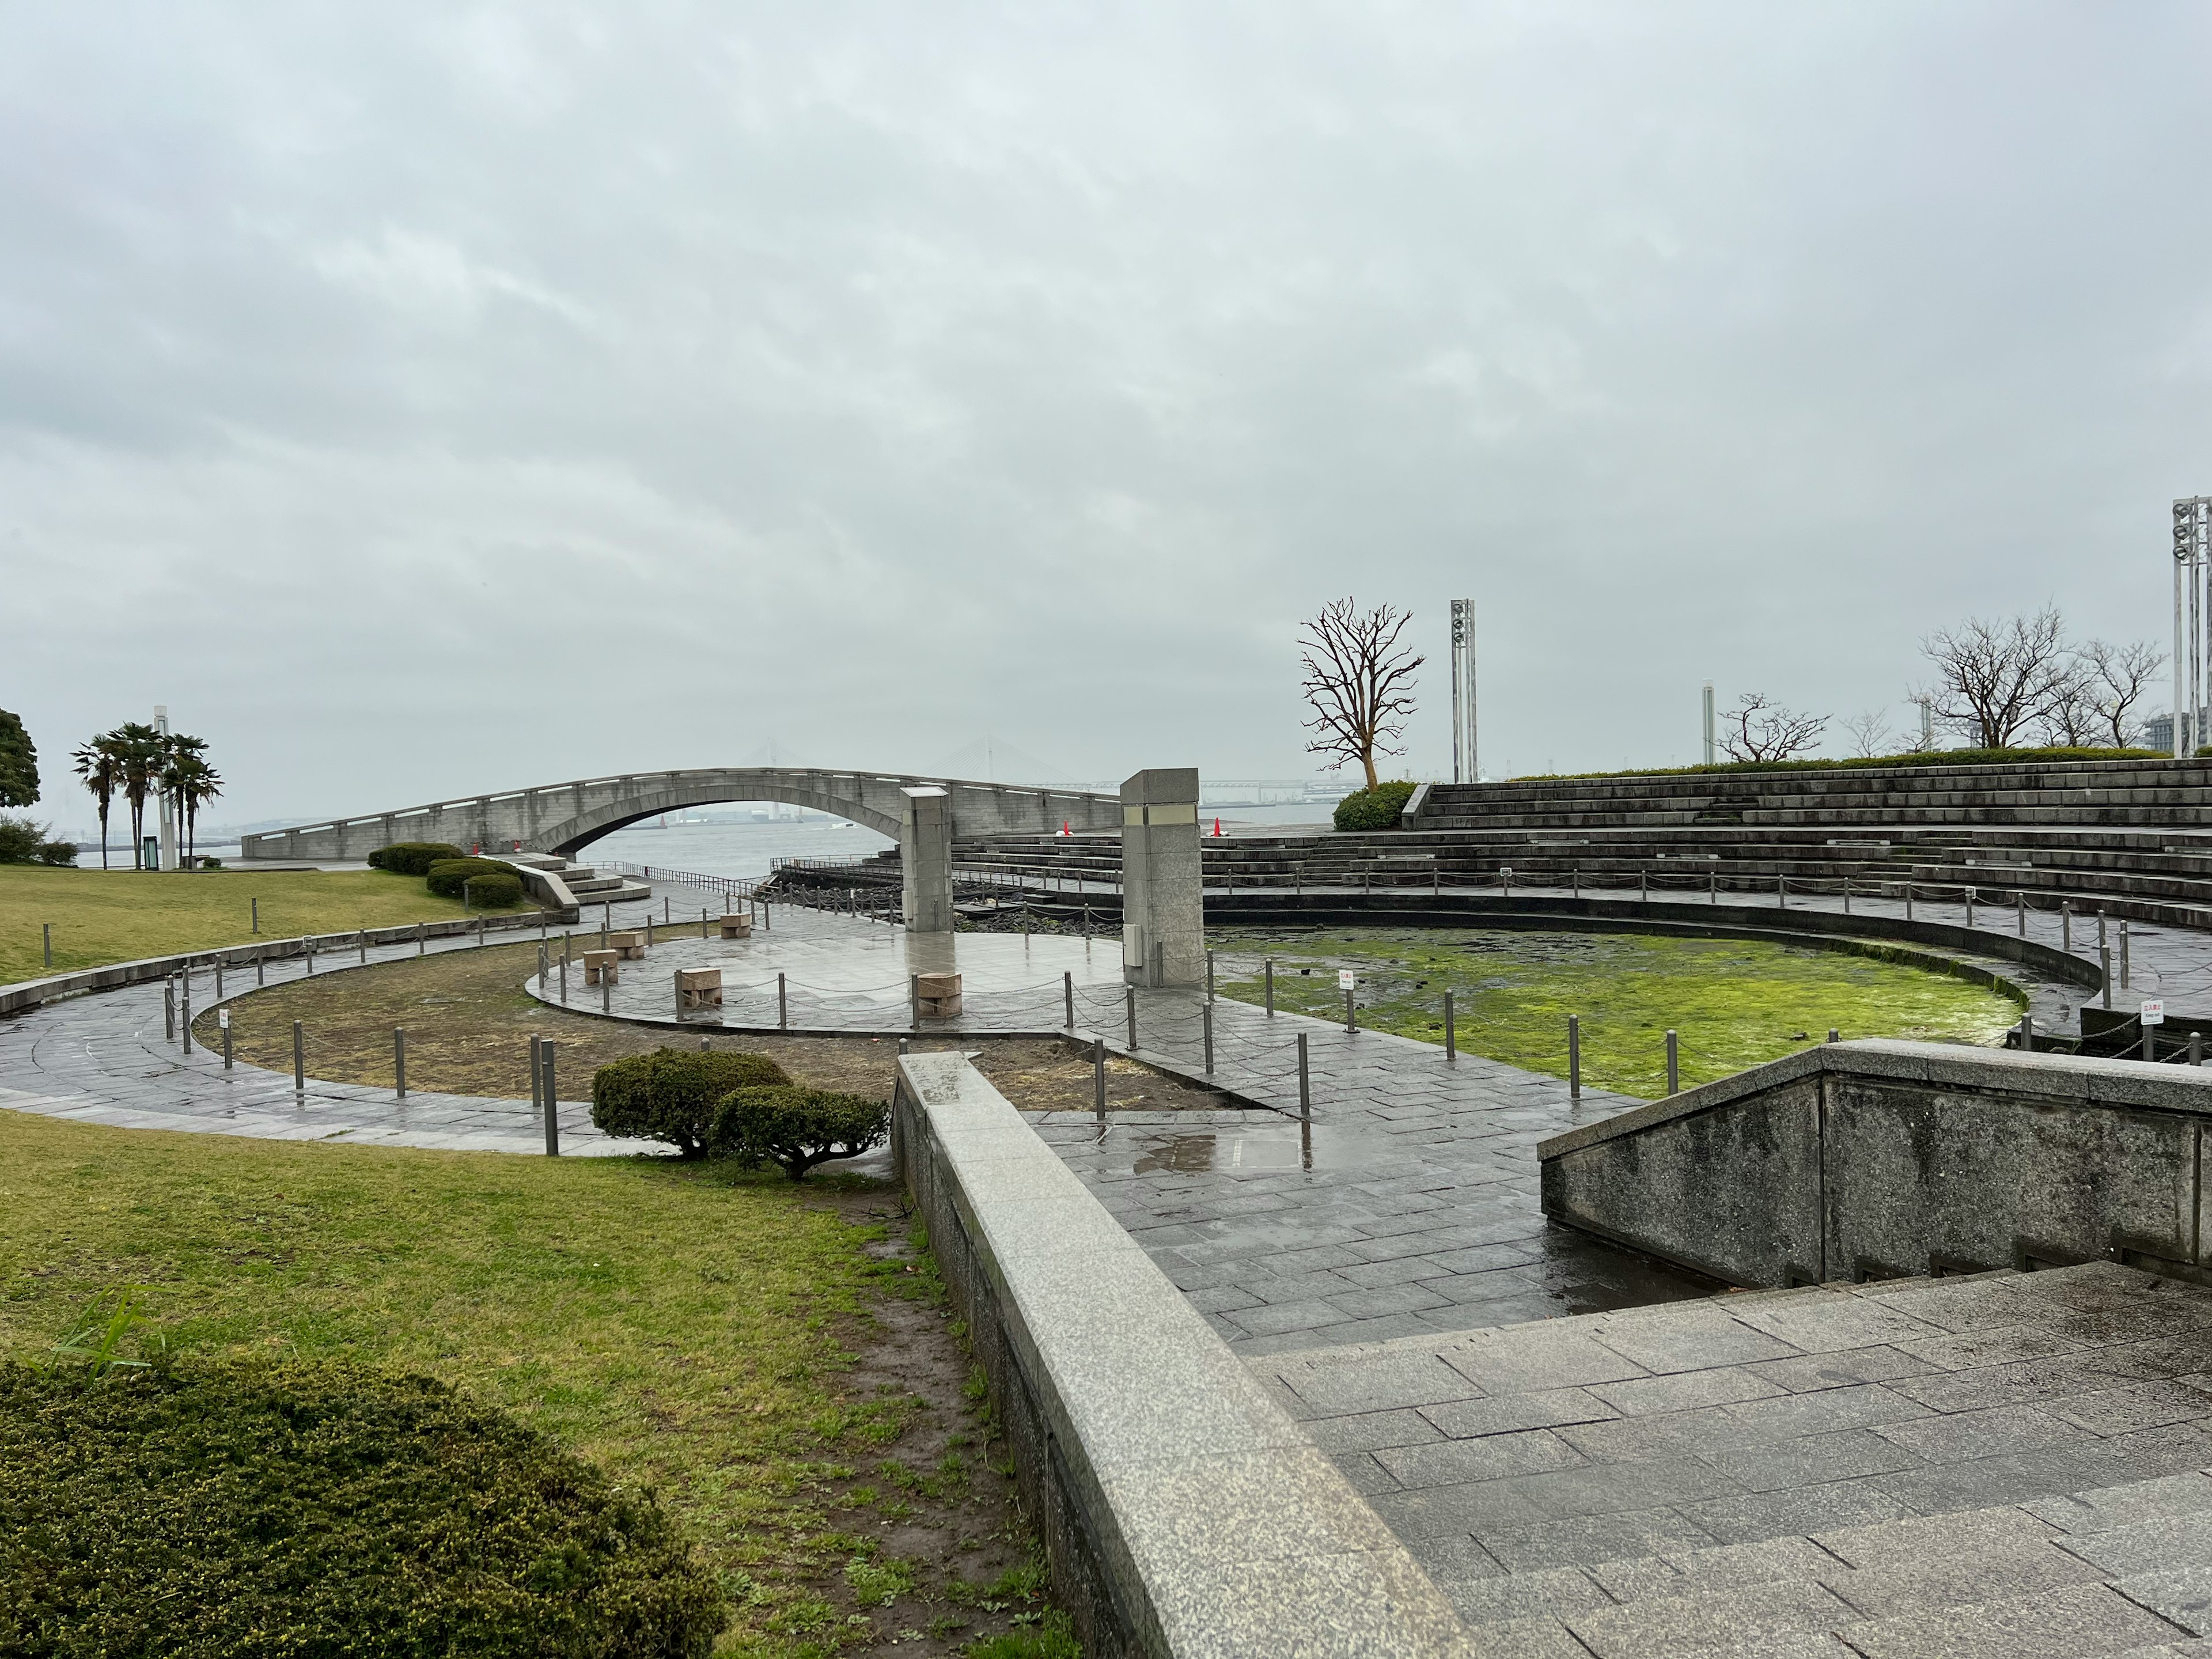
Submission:
{"label": "grey stone arch bridge in front of the water", "polygon": [[431,801],[398,812],[330,818],[294,830],[246,836],[252,858],[367,858],[396,841],[447,841],[456,847],[568,856],[599,836],[641,818],[726,801],[781,801],[900,836],[909,790],[942,790],[953,836],[1037,836],[1071,830],[1119,830],[1121,801],[1079,790],[1035,790],[969,779],[918,779],[885,772],[825,772],[792,765],[723,765],[686,772],[622,772],[606,779],[549,783],[538,790]]}

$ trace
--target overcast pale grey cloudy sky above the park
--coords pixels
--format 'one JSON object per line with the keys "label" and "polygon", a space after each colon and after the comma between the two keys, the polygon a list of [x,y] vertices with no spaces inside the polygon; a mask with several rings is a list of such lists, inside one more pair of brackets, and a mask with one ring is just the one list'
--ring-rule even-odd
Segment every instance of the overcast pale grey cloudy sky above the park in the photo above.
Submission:
{"label": "overcast pale grey cloudy sky above the park", "polygon": [[[0,706],[219,821],[799,757],[1449,776],[2163,637],[2205,4],[0,13]],[[995,761],[1000,776],[1009,774]]]}

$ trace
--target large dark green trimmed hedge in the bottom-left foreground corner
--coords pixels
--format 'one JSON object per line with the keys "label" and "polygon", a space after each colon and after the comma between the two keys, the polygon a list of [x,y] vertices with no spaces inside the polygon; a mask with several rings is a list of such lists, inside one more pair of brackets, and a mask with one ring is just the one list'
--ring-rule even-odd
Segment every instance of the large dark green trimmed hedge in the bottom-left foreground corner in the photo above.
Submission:
{"label": "large dark green trimmed hedge in the bottom-left foreground corner", "polygon": [[0,1652],[703,1659],[650,1493],[420,1376],[0,1365]]}

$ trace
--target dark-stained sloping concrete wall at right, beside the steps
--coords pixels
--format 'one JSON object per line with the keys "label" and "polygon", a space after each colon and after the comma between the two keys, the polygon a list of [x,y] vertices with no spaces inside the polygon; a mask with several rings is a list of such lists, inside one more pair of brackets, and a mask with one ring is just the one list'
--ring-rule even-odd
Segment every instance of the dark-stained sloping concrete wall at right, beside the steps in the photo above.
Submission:
{"label": "dark-stained sloping concrete wall at right, beside the steps", "polygon": [[1544,1214],[1734,1285],[2110,1259],[2212,1283],[2212,1073],[1845,1042],[1537,1148]]}

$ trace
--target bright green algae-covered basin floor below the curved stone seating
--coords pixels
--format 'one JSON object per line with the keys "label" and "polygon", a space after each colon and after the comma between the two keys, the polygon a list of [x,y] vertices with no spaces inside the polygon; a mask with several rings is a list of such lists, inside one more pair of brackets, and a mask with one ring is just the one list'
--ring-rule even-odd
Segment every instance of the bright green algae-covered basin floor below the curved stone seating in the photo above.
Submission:
{"label": "bright green algae-covered basin floor below the curved stone seating", "polygon": [[1876,956],[1761,940],[1506,929],[1239,929],[1210,936],[1217,991],[1259,1002],[1274,958],[1279,1009],[1343,1020],[1338,969],[1358,978],[1360,1024],[1444,1040],[1453,993],[1460,1048],[1566,1075],[1566,1015],[1582,1018],[1582,1079],[1657,1099],[1666,1033],[1681,1084],[1705,1084],[1820,1042],[1916,1037],[1997,1042],[2020,1004],[1997,991]]}

